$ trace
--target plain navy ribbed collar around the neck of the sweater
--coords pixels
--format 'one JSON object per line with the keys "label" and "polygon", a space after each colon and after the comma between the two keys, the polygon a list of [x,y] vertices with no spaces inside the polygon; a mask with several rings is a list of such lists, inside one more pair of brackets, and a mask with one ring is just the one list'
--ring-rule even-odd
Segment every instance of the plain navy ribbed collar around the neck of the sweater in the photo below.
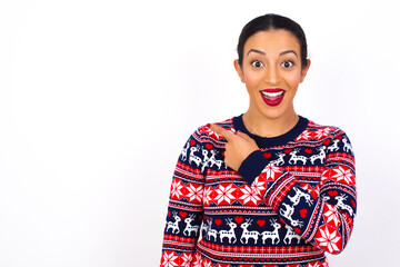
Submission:
{"label": "plain navy ribbed collar around the neck of the sweater", "polygon": [[306,128],[309,123],[308,119],[299,116],[299,121],[288,132],[283,134],[281,136],[277,136],[277,137],[260,137],[260,136],[256,136],[256,135],[251,134],[250,131],[248,131],[248,129],[246,129],[242,116],[243,115],[233,117],[234,129],[247,134],[249,137],[251,137],[257,142],[257,145],[260,148],[270,148],[270,147],[284,145],[289,141],[294,141],[294,139],[298,136],[300,136],[301,132],[303,132],[306,130]]}

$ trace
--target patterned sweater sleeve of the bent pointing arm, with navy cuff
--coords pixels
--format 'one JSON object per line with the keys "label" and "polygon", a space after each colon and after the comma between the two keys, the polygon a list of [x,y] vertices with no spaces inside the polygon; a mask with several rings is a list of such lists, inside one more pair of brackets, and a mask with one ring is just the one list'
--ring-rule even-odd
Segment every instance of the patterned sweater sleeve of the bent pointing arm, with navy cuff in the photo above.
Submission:
{"label": "patterned sweater sleeve of the bent pointing arm, with navy cuff", "polygon": [[[323,144],[316,149],[323,150],[326,157],[316,154],[308,159],[311,164],[323,160],[319,184],[313,188],[299,181],[294,171],[270,164],[260,150],[242,162],[239,174],[298,235],[330,254],[339,254],[350,239],[356,216],[354,157],[349,138],[340,129]],[[329,145],[332,149],[327,149]],[[249,175],[248,170],[260,166],[261,174]]]}

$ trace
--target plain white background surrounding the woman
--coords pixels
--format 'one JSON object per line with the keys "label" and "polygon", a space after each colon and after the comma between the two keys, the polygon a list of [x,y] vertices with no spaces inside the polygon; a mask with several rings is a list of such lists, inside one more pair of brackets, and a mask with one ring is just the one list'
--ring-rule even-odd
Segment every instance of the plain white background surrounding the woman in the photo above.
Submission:
{"label": "plain white background surrounding the woman", "polygon": [[396,1],[1,1],[0,266],[158,266],[199,126],[247,110],[241,28],[276,12],[312,61],[297,112],[349,135],[359,210],[331,266],[398,260]]}

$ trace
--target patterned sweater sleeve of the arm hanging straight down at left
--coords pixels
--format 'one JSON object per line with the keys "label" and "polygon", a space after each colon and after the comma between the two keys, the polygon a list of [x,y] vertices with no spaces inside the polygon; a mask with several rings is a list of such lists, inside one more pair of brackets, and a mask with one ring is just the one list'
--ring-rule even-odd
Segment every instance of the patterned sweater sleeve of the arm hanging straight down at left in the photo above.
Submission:
{"label": "patterned sweater sleeve of the arm hanging straight down at left", "polygon": [[173,172],[160,266],[190,266],[193,258],[203,214],[199,136],[190,136]]}

